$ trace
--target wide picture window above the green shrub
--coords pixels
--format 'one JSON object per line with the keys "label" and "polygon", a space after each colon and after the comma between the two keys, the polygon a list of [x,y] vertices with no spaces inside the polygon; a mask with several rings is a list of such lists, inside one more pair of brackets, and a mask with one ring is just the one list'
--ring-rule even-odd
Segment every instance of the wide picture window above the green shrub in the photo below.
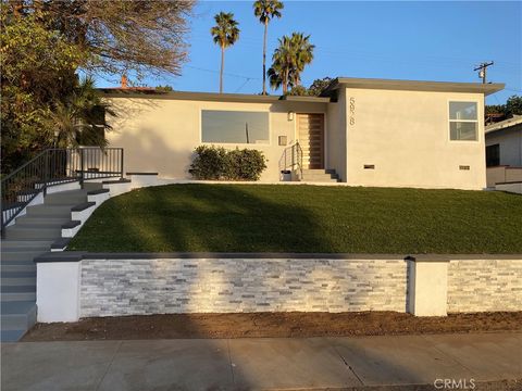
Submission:
{"label": "wide picture window above the green shrub", "polygon": [[219,143],[269,143],[269,113],[203,110],[201,140]]}

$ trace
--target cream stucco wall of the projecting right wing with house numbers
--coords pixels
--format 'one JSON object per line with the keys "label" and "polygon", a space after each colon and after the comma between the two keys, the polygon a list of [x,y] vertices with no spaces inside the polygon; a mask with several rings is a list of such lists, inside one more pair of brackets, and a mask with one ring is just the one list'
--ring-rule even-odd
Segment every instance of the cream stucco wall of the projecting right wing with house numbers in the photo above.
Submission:
{"label": "cream stucco wall of the projecting right wing with house numbers", "polygon": [[450,100],[477,102],[483,117],[481,93],[347,89],[348,184],[485,188],[484,125],[478,121],[477,141],[450,141]]}

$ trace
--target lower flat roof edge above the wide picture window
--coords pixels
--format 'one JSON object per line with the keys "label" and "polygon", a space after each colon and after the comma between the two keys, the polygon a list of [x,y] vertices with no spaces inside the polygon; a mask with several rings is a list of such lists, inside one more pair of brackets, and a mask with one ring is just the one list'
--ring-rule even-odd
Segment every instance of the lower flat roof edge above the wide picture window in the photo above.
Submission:
{"label": "lower flat roof edge above the wide picture window", "polygon": [[330,97],[297,97],[297,96],[262,96],[247,93],[217,93],[217,92],[189,92],[171,91],[161,92],[156,90],[135,90],[124,88],[100,88],[99,91],[107,98],[137,98],[137,99],[172,99],[172,100],[196,100],[196,101],[219,101],[219,102],[251,102],[251,103],[274,103],[277,101],[328,103]]}

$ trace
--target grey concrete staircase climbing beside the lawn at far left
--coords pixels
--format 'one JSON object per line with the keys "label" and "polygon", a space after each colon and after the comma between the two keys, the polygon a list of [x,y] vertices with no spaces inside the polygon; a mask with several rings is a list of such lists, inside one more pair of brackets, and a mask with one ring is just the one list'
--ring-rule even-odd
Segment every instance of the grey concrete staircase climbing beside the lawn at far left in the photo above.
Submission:
{"label": "grey concrete staircase climbing beside the lawn at far left", "polygon": [[77,205],[91,207],[88,193],[101,184],[46,195],[42,204],[28,206],[26,214],[5,229],[1,243],[1,340],[17,341],[36,323],[36,265],[33,260],[62,238],[62,228],[75,225]]}

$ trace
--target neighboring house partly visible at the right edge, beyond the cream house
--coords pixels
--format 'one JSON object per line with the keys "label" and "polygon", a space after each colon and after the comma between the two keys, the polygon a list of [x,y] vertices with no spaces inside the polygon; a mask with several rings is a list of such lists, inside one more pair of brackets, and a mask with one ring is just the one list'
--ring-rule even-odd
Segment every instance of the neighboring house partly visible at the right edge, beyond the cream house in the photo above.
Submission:
{"label": "neighboring house partly visible at the right edge, beyond the cream house", "polygon": [[486,126],[487,186],[522,181],[522,115]]}

